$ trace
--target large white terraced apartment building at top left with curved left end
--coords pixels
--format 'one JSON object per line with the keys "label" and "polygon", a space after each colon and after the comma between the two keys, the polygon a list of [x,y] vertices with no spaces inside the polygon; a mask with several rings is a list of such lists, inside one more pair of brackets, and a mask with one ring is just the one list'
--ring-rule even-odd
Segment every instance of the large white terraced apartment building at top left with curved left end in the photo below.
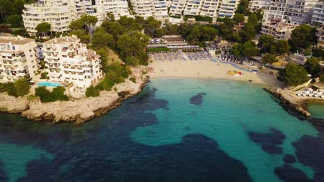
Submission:
{"label": "large white terraced apartment building at top left with curved left end", "polygon": [[24,26],[30,35],[37,33],[35,28],[42,22],[50,23],[53,32],[66,32],[72,20],[94,12],[90,5],[89,1],[83,0],[39,0],[26,4],[22,14]]}

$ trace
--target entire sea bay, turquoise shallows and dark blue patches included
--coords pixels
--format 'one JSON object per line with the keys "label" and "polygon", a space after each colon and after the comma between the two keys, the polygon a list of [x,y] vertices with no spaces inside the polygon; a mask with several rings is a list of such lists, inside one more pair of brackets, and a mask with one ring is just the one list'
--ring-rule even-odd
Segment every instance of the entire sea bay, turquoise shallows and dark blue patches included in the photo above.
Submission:
{"label": "entire sea bay, turquoise shallows and dark blue patches included", "polygon": [[0,181],[324,181],[304,119],[239,81],[153,79],[80,127],[0,114]]}

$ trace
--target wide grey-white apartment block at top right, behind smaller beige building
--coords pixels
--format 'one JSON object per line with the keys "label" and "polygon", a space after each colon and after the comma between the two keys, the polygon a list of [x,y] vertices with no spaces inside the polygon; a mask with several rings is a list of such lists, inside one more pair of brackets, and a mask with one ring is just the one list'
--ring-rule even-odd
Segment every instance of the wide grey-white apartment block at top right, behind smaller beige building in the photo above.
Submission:
{"label": "wide grey-white apartment block at top right, behind smaller beige building", "polygon": [[310,23],[318,0],[266,0],[262,22],[285,19],[291,23]]}

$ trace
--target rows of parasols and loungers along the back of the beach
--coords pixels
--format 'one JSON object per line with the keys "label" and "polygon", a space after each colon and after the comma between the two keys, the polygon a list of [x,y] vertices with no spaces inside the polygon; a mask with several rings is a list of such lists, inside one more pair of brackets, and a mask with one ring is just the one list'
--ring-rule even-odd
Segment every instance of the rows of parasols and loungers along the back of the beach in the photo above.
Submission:
{"label": "rows of parasols and loungers along the back of the beach", "polygon": [[199,51],[199,52],[153,52],[150,53],[150,60],[153,61],[212,61],[215,63],[225,63],[233,65],[234,68],[238,70],[242,70],[245,72],[258,72],[258,70],[249,70],[246,68],[242,68],[238,64],[243,61],[235,58],[233,55],[216,55],[213,58],[209,52],[207,51]]}

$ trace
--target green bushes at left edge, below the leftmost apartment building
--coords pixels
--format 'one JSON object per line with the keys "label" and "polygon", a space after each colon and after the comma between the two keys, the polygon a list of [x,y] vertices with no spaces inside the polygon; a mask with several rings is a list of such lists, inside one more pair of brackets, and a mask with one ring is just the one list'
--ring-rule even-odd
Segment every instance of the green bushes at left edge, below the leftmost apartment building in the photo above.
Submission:
{"label": "green bushes at left edge, below the leftmost apartment building", "polygon": [[15,82],[0,83],[0,92],[7,92],[14,97],[23,97],[29,93],[30,85],[27,79],[19,79]]}

